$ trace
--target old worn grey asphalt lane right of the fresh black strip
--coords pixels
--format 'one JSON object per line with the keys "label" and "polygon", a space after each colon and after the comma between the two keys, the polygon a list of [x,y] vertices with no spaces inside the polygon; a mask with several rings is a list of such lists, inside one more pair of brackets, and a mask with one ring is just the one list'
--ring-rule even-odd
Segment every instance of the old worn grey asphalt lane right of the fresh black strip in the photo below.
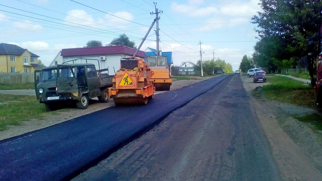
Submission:
{"label": "old worn grey asphalt lane right of the fresh black strip", "polygon": [[72,181],[280,180],[249,101],[230,76]]}

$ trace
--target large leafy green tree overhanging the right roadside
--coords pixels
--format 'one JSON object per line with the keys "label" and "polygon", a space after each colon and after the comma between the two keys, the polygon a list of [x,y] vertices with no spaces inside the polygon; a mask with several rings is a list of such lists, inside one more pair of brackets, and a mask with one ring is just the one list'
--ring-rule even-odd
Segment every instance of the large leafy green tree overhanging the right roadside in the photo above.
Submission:
{"label": "large leafy green tree overhanging the right roadside", "polygon": [[[285,61],[288,60],[293,61],[291,63],[295,66],[297,58],[292,57],[305,56],[308,38],[318,33],[322,1],[260,0],[260,6],[263,11],[252,17],[252,23],[258,24],[255,31],[260,37],[260,43],[255,46],[254,61],[260,62],[261,58],[266,58],[270,68],[281,69],[283,64],[288,64]],[[269,50],[272,44],[275,47]],[[313,66],[313,63],[308,64]]]}

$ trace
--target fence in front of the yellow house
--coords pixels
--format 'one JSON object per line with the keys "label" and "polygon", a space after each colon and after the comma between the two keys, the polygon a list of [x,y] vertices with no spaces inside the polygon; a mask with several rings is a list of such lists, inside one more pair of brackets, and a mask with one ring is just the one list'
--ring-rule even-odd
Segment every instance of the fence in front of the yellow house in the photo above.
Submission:
{"label": "fence in front of the yellow house", "polygon": [[34,82],[33,72],[30,73],[0,73],[0,83],[21,84]]}

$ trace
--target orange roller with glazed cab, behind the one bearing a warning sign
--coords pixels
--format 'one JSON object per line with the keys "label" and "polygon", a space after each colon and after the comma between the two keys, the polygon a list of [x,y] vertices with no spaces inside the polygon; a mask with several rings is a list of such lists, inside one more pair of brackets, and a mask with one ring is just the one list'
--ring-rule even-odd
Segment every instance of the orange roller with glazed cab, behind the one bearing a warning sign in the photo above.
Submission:
{"label": "orange roller with glazed cab, behind the one bearing a warning sign", "polygon": [[153,81],[156,90],[170,90],[172,79],[170,79],[166,55],[147,56],[147,63],[154,72],[150,80]]}

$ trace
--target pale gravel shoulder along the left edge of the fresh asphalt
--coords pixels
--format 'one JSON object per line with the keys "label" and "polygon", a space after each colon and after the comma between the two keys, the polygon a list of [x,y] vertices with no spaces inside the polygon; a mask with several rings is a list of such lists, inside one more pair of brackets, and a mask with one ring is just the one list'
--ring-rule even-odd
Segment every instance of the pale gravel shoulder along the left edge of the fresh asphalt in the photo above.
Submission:
{"label": "pale gravel shoulder along the left edge of the fresh asphalt", "polygon": [[[191,80],[181,80],[181,81],[173,81],[170,91],[175,89],[180,89],[182,87],[194,84],[196,82],[204,81],[213,77],[191,77],[195,79]],[[2,90],[0,93],[2,94],[18,94],[21,95],[25,91],[17,90]],[[155,94],[161,93],[164,91],[156,91]],[[27,91],[28,95],[34,95],[34,90]],[[48,126],[52,126],[70,119],[74,119],[80,117],[85,114],[89,114],[91,112],[95,112],[98,110],[102,110],[111,106],[115,106],[112,99],[109,100],[107,103],[100,103],[97,98],[91,99],[89,103],[89,107],[86,110],[79,110],[76,108],[69,108],[66,111],[54,111],[44,113],[38,119],[30,119],[28,121],[23,121],[21,125],[18,126],[8,126],[8,129],[5,131],[0,131],[0,140],[11,138],[14,136],[22,135],[24,133],[28,133],[37,129],[42,129]]]}

